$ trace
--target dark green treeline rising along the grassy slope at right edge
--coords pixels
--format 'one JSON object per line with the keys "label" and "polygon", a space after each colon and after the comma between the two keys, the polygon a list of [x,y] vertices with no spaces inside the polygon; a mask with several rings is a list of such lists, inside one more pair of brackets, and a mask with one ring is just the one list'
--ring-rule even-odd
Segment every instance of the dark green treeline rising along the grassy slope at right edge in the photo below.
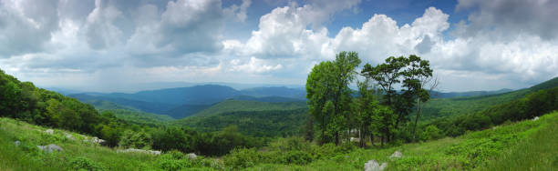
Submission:
{"label": "dark green treeline rising along the grassy slope at right edge", "polygon": [[470,115],[437,119],[425,126],[436,126],[443,130],[442,136],[460,136],[467,131],[532,119],[554,110],[558,110],[558,86],[555,85],[553,88],[539,90],[509,103],[492,106]]}

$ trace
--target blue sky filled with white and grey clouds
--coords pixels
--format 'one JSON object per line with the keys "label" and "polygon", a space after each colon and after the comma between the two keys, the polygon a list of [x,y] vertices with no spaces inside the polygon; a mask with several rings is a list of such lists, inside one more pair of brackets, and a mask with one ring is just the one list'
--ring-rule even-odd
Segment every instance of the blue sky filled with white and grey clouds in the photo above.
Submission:
{"label": "blue sky filled with white and grey clouds", "polygon": [[558,76],[554,0],[0,0],[0,69],[42,87],[305,85],[356,51],[430,61],[441,91]]}

